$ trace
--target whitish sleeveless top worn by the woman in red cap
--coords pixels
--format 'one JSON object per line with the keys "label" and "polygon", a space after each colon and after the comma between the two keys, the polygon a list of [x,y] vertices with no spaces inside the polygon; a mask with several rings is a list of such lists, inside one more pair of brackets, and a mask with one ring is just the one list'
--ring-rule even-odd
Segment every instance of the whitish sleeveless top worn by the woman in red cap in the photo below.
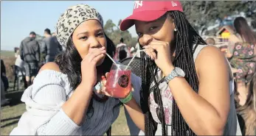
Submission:
{"label": "whitish sleeveless top worn by the woman in red cap", "polygon": [[[193,59],[194,62],[196,61],[196,57],[198,56],[199,52],[201,49],[203,49],[207,45],[198,45],[198,47],[195,50],[195,53],[193,54]],[[162,79],[162,72],[158,71],[158,74],[156,75],[156,81],[159,82],[159,89],[161,90],[162,93],[162,101],[163,101],[163,107],[165,111],[165,124],[167,125],[168,128],[168,135],[171,134],[171,121],[172,121],[172,106],[173,106],[173,95],[170,91],[169,86],[167,85],[166,82],[160,82]],[[154,86],[154,82],[151,84],[151,89]],[[236,133],[236,128],[237,128],[237,117],[236,117],[236,111],[235,111],[235,101],[234,101],[234,80],[232,79],[229,82],[229,93],[230,93],[230,111],[229,111],[229,116],[228,116],[228,121],[226,123],[226,129],[224,132],[224,135],[235,135]],[[150,89],[150,90],[151,90]],[[149,99],[149,107],[151,110],[151,115],[159,125],[157,127],[156,135],[162,135],[162,125],[161,122],[159,121],[159,118],[156,114],[156,109],[158,107],[158,104],[156,104],[156,101],[154,101],[153,98],[153,91],[150,94],[150,99]],[[142,134],[142,133],[140,133]]]}

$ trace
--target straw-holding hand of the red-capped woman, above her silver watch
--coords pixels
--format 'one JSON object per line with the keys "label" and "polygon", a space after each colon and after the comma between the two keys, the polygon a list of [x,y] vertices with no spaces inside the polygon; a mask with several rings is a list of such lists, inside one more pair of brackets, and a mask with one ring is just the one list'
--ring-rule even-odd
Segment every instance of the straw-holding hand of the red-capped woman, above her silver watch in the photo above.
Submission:
{"label": "straw-holding hand of the red-capped woman, above her silver watch", "polygon": [[170,44],[160,40],[153,40],[148,46],[144,46],[146,54],[156,62],[156,65],[164,72],[170,74],[173,70],[173,62],[170,55]]}

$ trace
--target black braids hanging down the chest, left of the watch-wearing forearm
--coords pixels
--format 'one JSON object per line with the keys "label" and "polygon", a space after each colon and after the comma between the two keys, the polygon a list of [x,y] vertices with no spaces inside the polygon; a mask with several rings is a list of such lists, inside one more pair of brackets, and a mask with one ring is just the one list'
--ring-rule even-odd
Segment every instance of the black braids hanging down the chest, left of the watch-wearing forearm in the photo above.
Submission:
{"label": "black braids hanging down the chest, left of the watch-wearing forearm", "polygon": [[[145,135],[155,135],[156,129],[157,129],[157,123],[153,120],[153,117],[151,115],[151,112],[148,107],[148,97],[150,95],[150,85],[152,82],[155,82],[155,84],[158,86],[158,82],[156,82],[156,71],[157,66],[156,63],[153,62],[144,52],[141,53],[141,67],[143,69],[142,71],[142,90],[140,91],[141,96],[141,105],[142,105],[142,111],[145,114]],[[152,76],[151,76],[152,75]],[[147,90],[147,91],[145,91]],[[164,107],[162,104],[162,96],[161,96],[161,90],[159,87],[156,87],[156,90],[153,91],[155,101],[159,104],[159,110],[158,115],[160,118],[160,121],[162,122],[162,135],[167,135],[167,129],[165,125],[165,115],[164,113]]]}

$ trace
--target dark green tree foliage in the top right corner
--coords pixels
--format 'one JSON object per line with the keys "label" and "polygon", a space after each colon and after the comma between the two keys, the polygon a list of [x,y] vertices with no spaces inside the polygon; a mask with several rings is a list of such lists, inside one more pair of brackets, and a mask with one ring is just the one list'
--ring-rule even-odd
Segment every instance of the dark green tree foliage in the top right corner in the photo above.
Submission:
{"label": "dark green tree foliage in the top right corner", "polygon": [[234,15],[253,9],[255,1],[181,1],[184,13],[200,35],[208,26],[222,21],[226,15]]}

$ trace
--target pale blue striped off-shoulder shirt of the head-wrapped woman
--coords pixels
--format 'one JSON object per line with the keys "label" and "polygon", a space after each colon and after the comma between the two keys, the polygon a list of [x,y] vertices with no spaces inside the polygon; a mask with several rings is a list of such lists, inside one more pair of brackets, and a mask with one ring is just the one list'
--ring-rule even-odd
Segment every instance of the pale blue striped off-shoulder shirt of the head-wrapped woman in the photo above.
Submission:
{"label": "pale blue striped off-shoulder shirt of the head-wrapped woman", "polygon": [[[131,83],[137,92],[140,78],[132,74]],[[66,74],[41,71],[33,85],[24,91],[21,101],[26,103],[27,111],[10,135],[104,135],[119,115],[120,107],[115,106],[120,100],[111,97],[104,103],[93,100],[94,114],[86,114],[85,121],[78,126],[61,108],[73,91]]]}

